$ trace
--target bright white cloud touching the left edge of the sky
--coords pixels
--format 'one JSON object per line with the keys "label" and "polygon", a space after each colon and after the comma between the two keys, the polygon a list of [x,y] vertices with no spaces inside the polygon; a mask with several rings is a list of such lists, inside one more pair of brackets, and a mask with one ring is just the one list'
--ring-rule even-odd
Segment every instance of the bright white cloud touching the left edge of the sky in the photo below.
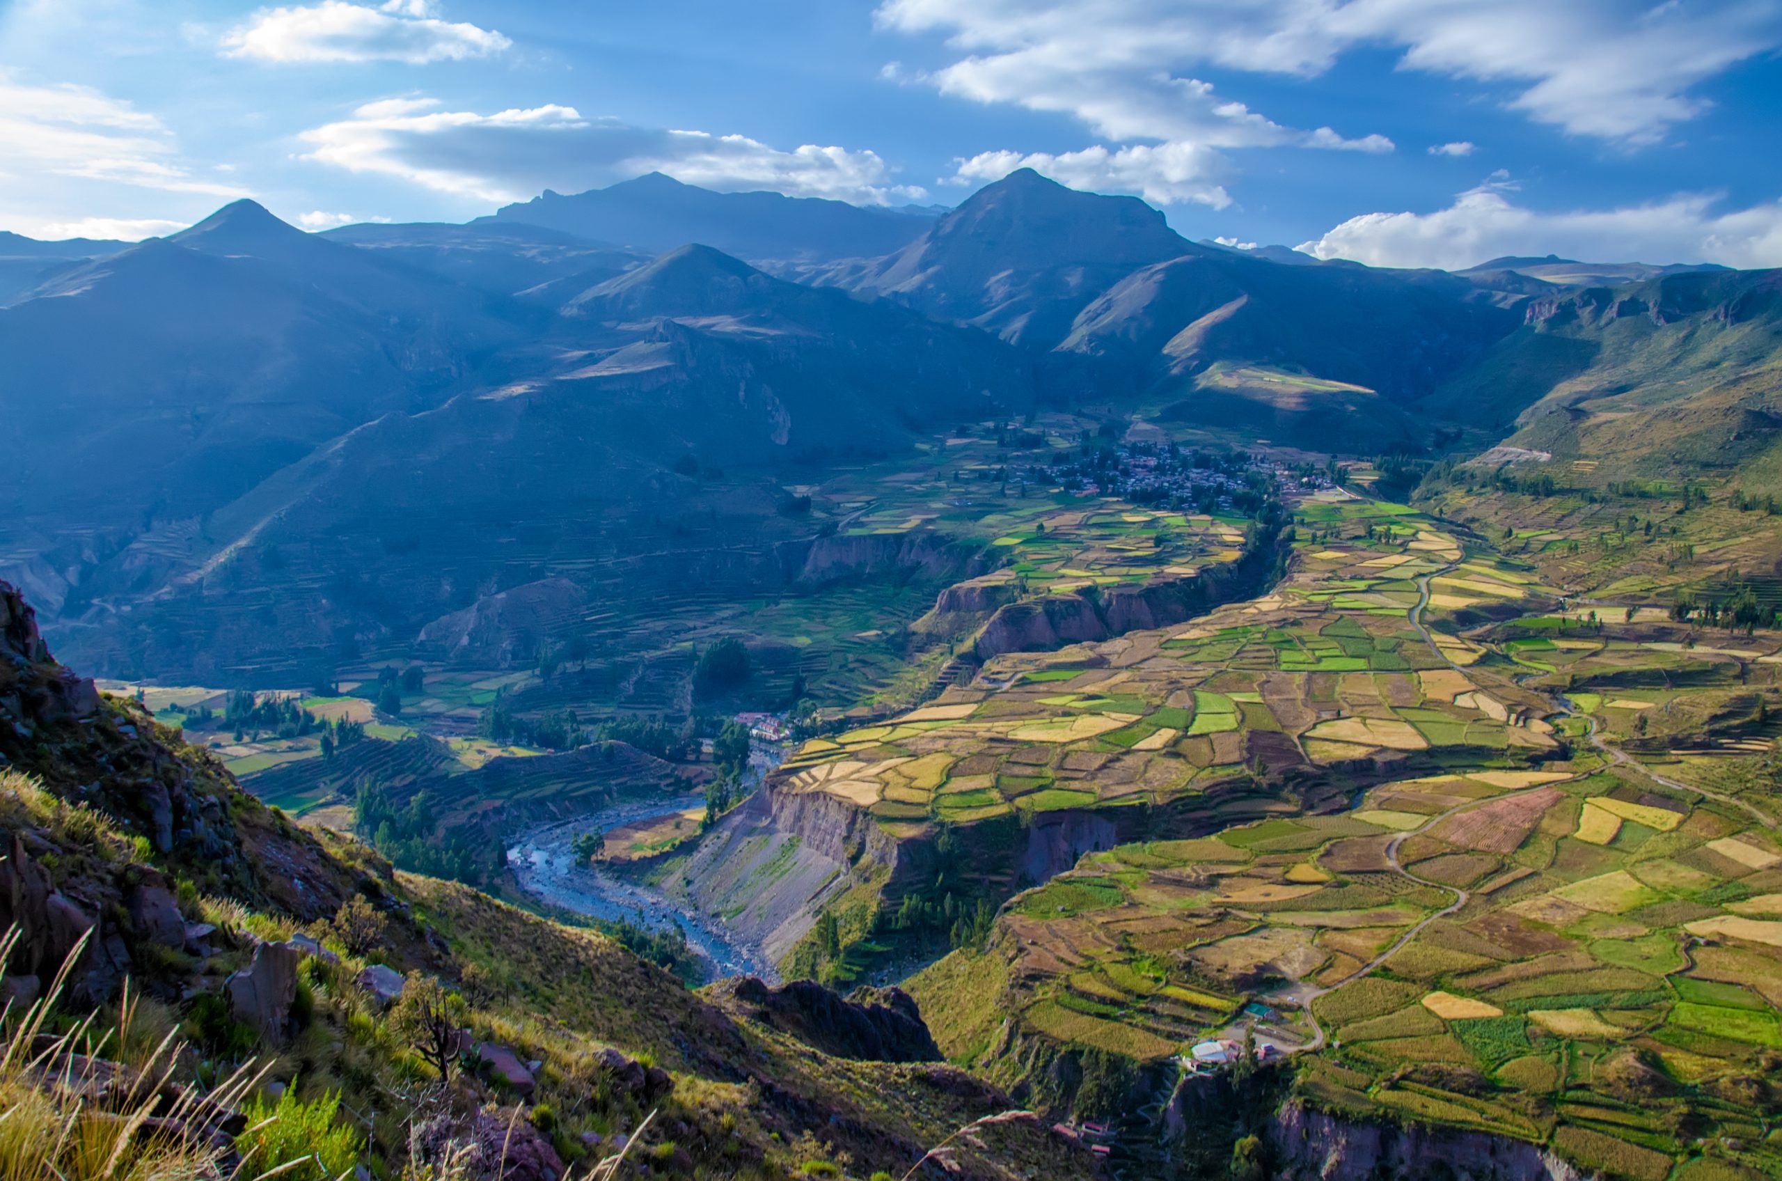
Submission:
{"label": "bright white cloud touching the left edge of the sky", "polygon": [[0,71],[0,161],[18,175],[75,177],[168,193],[246,196],[194,177],[153,114],[86,86],[29,86]]}

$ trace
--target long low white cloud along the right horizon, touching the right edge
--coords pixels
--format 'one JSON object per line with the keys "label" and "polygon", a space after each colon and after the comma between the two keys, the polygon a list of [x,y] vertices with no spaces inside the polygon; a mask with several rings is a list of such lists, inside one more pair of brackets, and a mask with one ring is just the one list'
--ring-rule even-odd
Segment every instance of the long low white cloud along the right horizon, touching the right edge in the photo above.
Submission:
{"label": "long low white cloud along the right horizon, touching the right edge", "polygon": [[1516,205],[1513,191],[1486,184],[1427,214],[1363,214],[1299,250],[1369,266],[1443,269],[1545,253],[1588,262],[1782,266],[1782,202],[1716,212],[1718,196],[1686,193],[1622,209],[1540,212]]}

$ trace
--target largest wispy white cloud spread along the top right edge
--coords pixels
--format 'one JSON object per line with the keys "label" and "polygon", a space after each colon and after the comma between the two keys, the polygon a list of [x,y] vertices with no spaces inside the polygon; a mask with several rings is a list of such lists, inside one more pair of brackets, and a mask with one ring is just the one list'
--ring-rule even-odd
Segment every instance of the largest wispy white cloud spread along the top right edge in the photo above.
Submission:
{"label": "largest wispy white cloud spread along the top right edge", "polygon": [[1689,91],[1782,45],[1775,0],[884,0],[879,23],[941,32],[944,93],[1062,111],[1112,139],[1212,146],[1320,143],[1194,71],[1315,77],[1358,46],[1500,87],[1511,109],[1574,134],[1650,143],[1705,107]]}

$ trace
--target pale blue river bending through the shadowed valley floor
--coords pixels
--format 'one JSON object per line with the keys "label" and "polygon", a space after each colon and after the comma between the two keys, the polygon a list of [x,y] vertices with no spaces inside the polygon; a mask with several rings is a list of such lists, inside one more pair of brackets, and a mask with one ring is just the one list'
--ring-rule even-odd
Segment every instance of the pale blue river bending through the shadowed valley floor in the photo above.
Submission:
{"label": "pale blue river bending through the shadowed valley floor", "polygon": [[625,921],[652,931],[681,928],[688,947],[699,954],[713,979],[759,976],[768,983],[779,983],[779,972],[761,949],[732,938],[722,919],[690,910],[647,885],[597,869],[577,858],[570,847],[581,833],[611,831],[620,824],[686,812],[704,801],[704,796],[672,796],[542,824],[522,833],[508,847],[508,869],[522,890],[552,906],[590,919]]}

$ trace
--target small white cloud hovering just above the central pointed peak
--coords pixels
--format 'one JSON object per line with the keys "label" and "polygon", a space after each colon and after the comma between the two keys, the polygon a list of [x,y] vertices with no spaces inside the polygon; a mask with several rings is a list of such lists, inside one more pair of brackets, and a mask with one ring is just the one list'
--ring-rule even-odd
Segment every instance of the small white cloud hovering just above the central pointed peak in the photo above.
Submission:
{"label": "small white cloud hovering just above the central pointed peak", "polygon": [[989,184],[1018,168],[1032,168],[1073,189],[1098,193],[1135,193],[1157,205],[1194,202],[1224,209],[1231,196],[1215,180],[1228,171],[1226,159],[1212,148],[1190,143],[1132,145],[1126,148],[1085,148],[1082,152],[980,152],[957,161],[957,171],[943,184]]}

